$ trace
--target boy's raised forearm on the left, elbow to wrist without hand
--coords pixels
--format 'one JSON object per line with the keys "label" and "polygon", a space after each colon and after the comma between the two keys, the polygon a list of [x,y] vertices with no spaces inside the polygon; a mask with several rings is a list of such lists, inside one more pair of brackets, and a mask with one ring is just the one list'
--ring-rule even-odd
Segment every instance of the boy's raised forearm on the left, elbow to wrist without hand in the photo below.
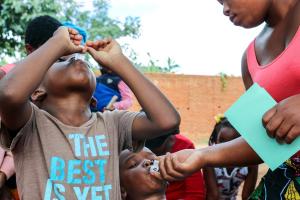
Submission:
{"label": "boy's raised forearm on the left, elbow to wrist without hand", "polygon": [[[10,73],[0,81],[1,104],[27,101],[32,92],[40,85],[49,67],[59,58],[63,49],[59,41],[51,38],[39,50],[33,52],[16,64]],[[50,49],[50,50],[49,50]],[[13,98],[7,101],[2,97]]]}

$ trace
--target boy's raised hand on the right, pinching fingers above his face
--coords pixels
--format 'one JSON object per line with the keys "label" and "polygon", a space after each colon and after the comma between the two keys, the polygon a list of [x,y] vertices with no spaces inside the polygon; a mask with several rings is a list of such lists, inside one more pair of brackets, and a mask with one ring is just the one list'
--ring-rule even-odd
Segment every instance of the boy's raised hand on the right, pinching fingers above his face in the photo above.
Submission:
{"label": "boy's raised hand on the right, pinching fingers above his face", "polygon": [[113,39],[87,41],[87,51],[102,66],[111,69],[113,61],[123,56],[120,45]]}

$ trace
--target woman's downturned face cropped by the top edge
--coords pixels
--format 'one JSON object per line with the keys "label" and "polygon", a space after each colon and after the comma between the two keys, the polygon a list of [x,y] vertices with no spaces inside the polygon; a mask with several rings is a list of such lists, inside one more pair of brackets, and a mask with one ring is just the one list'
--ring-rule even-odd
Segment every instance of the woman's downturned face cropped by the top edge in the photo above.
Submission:
{"label": "woman's downturned face cropped by the top edge", "polygon": [[252,28],[266,20],[271,0],[218,0],[223,13],[236,26]]}

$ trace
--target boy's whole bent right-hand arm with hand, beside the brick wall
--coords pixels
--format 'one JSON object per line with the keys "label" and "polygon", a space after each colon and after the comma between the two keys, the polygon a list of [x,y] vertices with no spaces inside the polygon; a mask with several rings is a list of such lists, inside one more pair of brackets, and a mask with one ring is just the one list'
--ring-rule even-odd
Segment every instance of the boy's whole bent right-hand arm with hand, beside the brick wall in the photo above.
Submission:
{"label": "boy's whole bent right-hand arm with hand, beside the brick wall", "polygon": [[99,64],[122,78],[144,109],[146,115],[140,114],[133,122],[134,140],[154,138],[178,128],[178,112],[159,89],[123,55],[116,41],[106,39],[87,42],[87,46],[89,53]]}

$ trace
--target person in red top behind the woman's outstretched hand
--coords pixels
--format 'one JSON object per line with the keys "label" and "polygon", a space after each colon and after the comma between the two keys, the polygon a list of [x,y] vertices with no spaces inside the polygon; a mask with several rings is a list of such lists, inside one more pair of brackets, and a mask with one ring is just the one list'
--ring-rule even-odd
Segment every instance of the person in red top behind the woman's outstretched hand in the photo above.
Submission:
{"label": "person in red top behind the woman's outstretched hand", "polygon": [[[178,133],[178,130],[177,132]],[[157,156],[174,153],[183,149],[195,149],[191,140],[181,134],[169,134],[147,140],[145,146]],[[201,171],[181,181],[170,182],[166,192],[167,200],[205,199],[205,186]]]}

